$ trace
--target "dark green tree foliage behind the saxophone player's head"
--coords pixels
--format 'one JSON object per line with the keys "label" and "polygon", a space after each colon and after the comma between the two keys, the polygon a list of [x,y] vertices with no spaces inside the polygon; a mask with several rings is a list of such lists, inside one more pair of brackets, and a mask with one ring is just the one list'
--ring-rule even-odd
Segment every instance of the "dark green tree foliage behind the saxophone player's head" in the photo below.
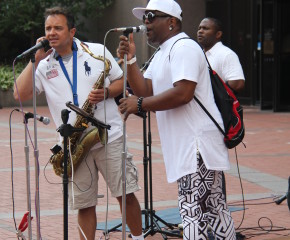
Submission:
{"label": "dark green tree foliage behind the saxophone player's head", "polygon": [[3,54],[1,55],[5,58],[7,49],[10,49],[10,54],[14,54],[14,44],[18,44],[18,49],[26,47],[21,46],[20,41],[26,41],[27,45],[31,46],[35,43],[36,37],[43,35],[43,14],[46,8],[54,6],[70,8],[78,29],[84,31],[81,19],[91,15],[101,16],[103,10],[112,2],[113,0],[0,0],[0,51]]}

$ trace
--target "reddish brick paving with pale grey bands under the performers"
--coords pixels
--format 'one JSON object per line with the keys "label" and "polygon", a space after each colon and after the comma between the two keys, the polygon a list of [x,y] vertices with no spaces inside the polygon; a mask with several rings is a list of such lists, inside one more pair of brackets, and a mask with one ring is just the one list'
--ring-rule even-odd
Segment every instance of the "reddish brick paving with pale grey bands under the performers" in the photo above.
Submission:
{"label": "reddish brick paving with pale grey bands under the performers", "polygon": [[[0,109],[0,239],[17,239],[13,221],[12,205],[12,165],[14,185],[14,215],[18,226],[27,210],[26,169],[24,153],[24,125],[22,115],[13,112],[11,115],[11,135],[9,116],[13,108]],[[32,111],[26,107],[26,111]],[[39,115],[50,117],[47,107],[37,107]],[[246,136],[244,143],[237,147],[239,170],[242,178],[246,210],[232,213],[238,232],[247,239],[285,240],[290,239],[290,212],[287,201],[280,205],[273,202],[273,197],[284,195],[288,189],[290,175],[290,113],[273,113],[260,111],[256,107],[245,107],[244,113]],[[34,141],[33,121],[29,120],[29,129]],[[127,142],[130,152],[139,170],[139,184],[144,185],[143,167],[143,121],[137,116],[130,116],[127,124]],[[37,124],[37,145],[39,150],[39,195],[40,195],[40,233],[41,238],[63,239],[63,195],[61,178],[57,177],[50,164],[47,164],[51,148],[57,142],[56,127],[53,123],[45,126]],[[151,114],[152,133],[152,182],[154,209],[175,208],[177,205],[176,184],[168,184],[160,149],[160,141],[155,115]],[[12,140],[13,161],[11,160],[10,137]],[[234,150],[230,150],[232,169],[226,172],[227,199],[229,205],[242,206],[242,191],[237,173]],[[29,142],[31,208],[33,239],[37,239],[35,221],[35,160],[34,149]],[[121,218],[117,201],[109,194],[106,197],[106,186],[100,179],[100,199],[97,207],[98,222]],[[137,194],[142,208],[144,191]],[[244,216],[243,216],[244,215]],[[69,211],[69,239],[78,239],[76,212]],[[241,224],[242,223],[242,224]],[[27,236],[27,231],[25,232]],[[120,232],[110,233],[110,239],[121,239]],[[172,237],[168,237],[172,239]],[[104,239],[101,230],[97,230],[96,239]],[[156,233],[146,239],[163,239]]]}

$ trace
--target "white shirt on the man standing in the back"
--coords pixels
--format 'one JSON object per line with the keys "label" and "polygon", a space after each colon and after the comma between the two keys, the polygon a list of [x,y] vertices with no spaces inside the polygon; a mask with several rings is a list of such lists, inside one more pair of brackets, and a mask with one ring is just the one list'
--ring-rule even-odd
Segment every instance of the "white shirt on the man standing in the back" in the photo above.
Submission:
{"label": "white shirt on the man standing in the back", "polygon": [[237,54],[222,42],[217,42],[206,52],[212,69],[225,81],[245,80],[243,69]]}

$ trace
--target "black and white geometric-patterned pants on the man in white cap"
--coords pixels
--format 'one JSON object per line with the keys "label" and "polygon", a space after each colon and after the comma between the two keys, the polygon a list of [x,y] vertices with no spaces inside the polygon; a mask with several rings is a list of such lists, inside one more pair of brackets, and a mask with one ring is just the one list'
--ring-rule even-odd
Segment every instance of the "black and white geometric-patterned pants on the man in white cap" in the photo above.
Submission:
{"label": "black and white geometric-patterned pants on the man in white cap", "polygon": [[222,172],[208,170],[200,154],[197,160],[197,172],[177,181],[183,239],[206,240],[210,228],[217,240],[235,240],[234,222],[222,191]]}

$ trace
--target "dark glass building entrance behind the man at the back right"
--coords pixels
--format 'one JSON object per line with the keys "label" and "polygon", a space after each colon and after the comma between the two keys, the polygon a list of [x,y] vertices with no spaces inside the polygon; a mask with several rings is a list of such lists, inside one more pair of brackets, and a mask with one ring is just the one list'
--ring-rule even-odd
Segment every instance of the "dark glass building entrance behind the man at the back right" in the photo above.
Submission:
{"label": "dark glass building entrance behind the man at the back right", "polygon": [[241,60],[242,101],[262,110],[290,111],[290,1],[206,0],[206,15],[223,21],[224,42]]}

